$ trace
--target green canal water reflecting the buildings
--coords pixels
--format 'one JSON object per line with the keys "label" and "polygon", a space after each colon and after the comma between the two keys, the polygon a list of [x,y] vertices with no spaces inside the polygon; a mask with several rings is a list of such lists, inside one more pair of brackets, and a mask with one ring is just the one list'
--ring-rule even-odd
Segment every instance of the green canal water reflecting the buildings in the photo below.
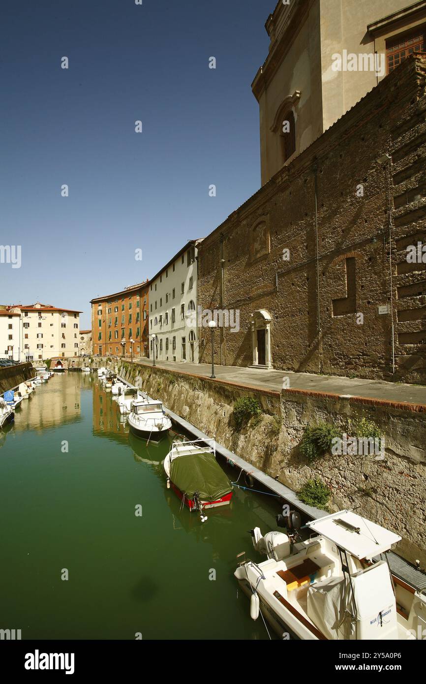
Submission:
{"label": "green canal water reflecting the buildings", "polygon": [[[278,502],[236,489],[202,525],[166,487],[169,445],[129,435],[92,375],[57,374],[22,402],[0,432],[1,629],[23,639],[268,638],[233,572],[241,551],[261,560],[248,530],[274,529]],[[239,470],[223,465],[235,480]]]}

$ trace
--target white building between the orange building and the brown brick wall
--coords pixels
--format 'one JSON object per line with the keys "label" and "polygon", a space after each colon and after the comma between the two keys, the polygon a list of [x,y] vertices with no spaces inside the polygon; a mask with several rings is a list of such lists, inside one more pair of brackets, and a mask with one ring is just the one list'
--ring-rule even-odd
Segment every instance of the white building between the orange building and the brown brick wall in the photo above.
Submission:
{"label": "white building between the orange building and the brown brick wall", "polygon": [[[190,240],[150,281],[150,356],[198,363],[197,246]],[[155,335],[155,339],[153,336]]]}

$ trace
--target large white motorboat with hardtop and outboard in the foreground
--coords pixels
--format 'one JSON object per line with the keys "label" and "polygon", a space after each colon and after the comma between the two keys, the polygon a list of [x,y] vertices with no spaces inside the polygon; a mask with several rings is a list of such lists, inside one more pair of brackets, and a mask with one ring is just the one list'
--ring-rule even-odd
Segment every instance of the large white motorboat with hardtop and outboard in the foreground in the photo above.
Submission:
{"label": "large white motorboat with hardtop and outboard in the foreground", "polygon": [[254,620],[261,612],[281,637],[304,640],[425,637],[425,591],[392,575],[382,560],[400,536],[349,510],[308,523],[316,536],[307,540],[299,536],[298,513],[277,522],[287,534],[251,531],[268,560],[243,560],[235,571]]}

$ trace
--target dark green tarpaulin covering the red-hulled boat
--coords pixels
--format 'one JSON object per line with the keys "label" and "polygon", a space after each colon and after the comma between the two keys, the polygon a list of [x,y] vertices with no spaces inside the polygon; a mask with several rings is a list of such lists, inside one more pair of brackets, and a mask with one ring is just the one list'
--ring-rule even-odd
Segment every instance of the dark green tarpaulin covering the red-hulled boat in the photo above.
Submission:
{"label": "dark green tarpaulin covering the red-hulled boat", "polygon": [[216,501],[232,491],[228,477],[209,451],[173,458],[170,479],[187,499],[194,499],[197,492],[202,501]]}

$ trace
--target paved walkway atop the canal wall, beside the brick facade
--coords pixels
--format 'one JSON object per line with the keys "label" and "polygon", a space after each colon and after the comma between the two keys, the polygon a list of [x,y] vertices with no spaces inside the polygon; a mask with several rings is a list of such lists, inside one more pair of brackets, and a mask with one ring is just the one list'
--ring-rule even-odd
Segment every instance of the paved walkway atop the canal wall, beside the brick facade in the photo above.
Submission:
{"label": "paved walkway atop the canal wall, beside the brick facade", "polygon": [[[129,360],[129,359],[126,359]],[[136,363],[152,366],[152,359],[135,358]],[[195,376],[211,376],[211,365],[207,363],[173,363],[156,360],[158,368],[189,373]],[[341,378],[339,376],[316,376],[312,373],[291,373],[287,371],[268,371],[257,368],[236,366],[215,366],[218,380],[259,389],[281,392],[284,378],[289,378],[289,389],[326,392],[352,397],[369,397],[388,402],[407,404],[426,404],[426,386],[396,384],[384,380],[360,380],[360,378]]]}

